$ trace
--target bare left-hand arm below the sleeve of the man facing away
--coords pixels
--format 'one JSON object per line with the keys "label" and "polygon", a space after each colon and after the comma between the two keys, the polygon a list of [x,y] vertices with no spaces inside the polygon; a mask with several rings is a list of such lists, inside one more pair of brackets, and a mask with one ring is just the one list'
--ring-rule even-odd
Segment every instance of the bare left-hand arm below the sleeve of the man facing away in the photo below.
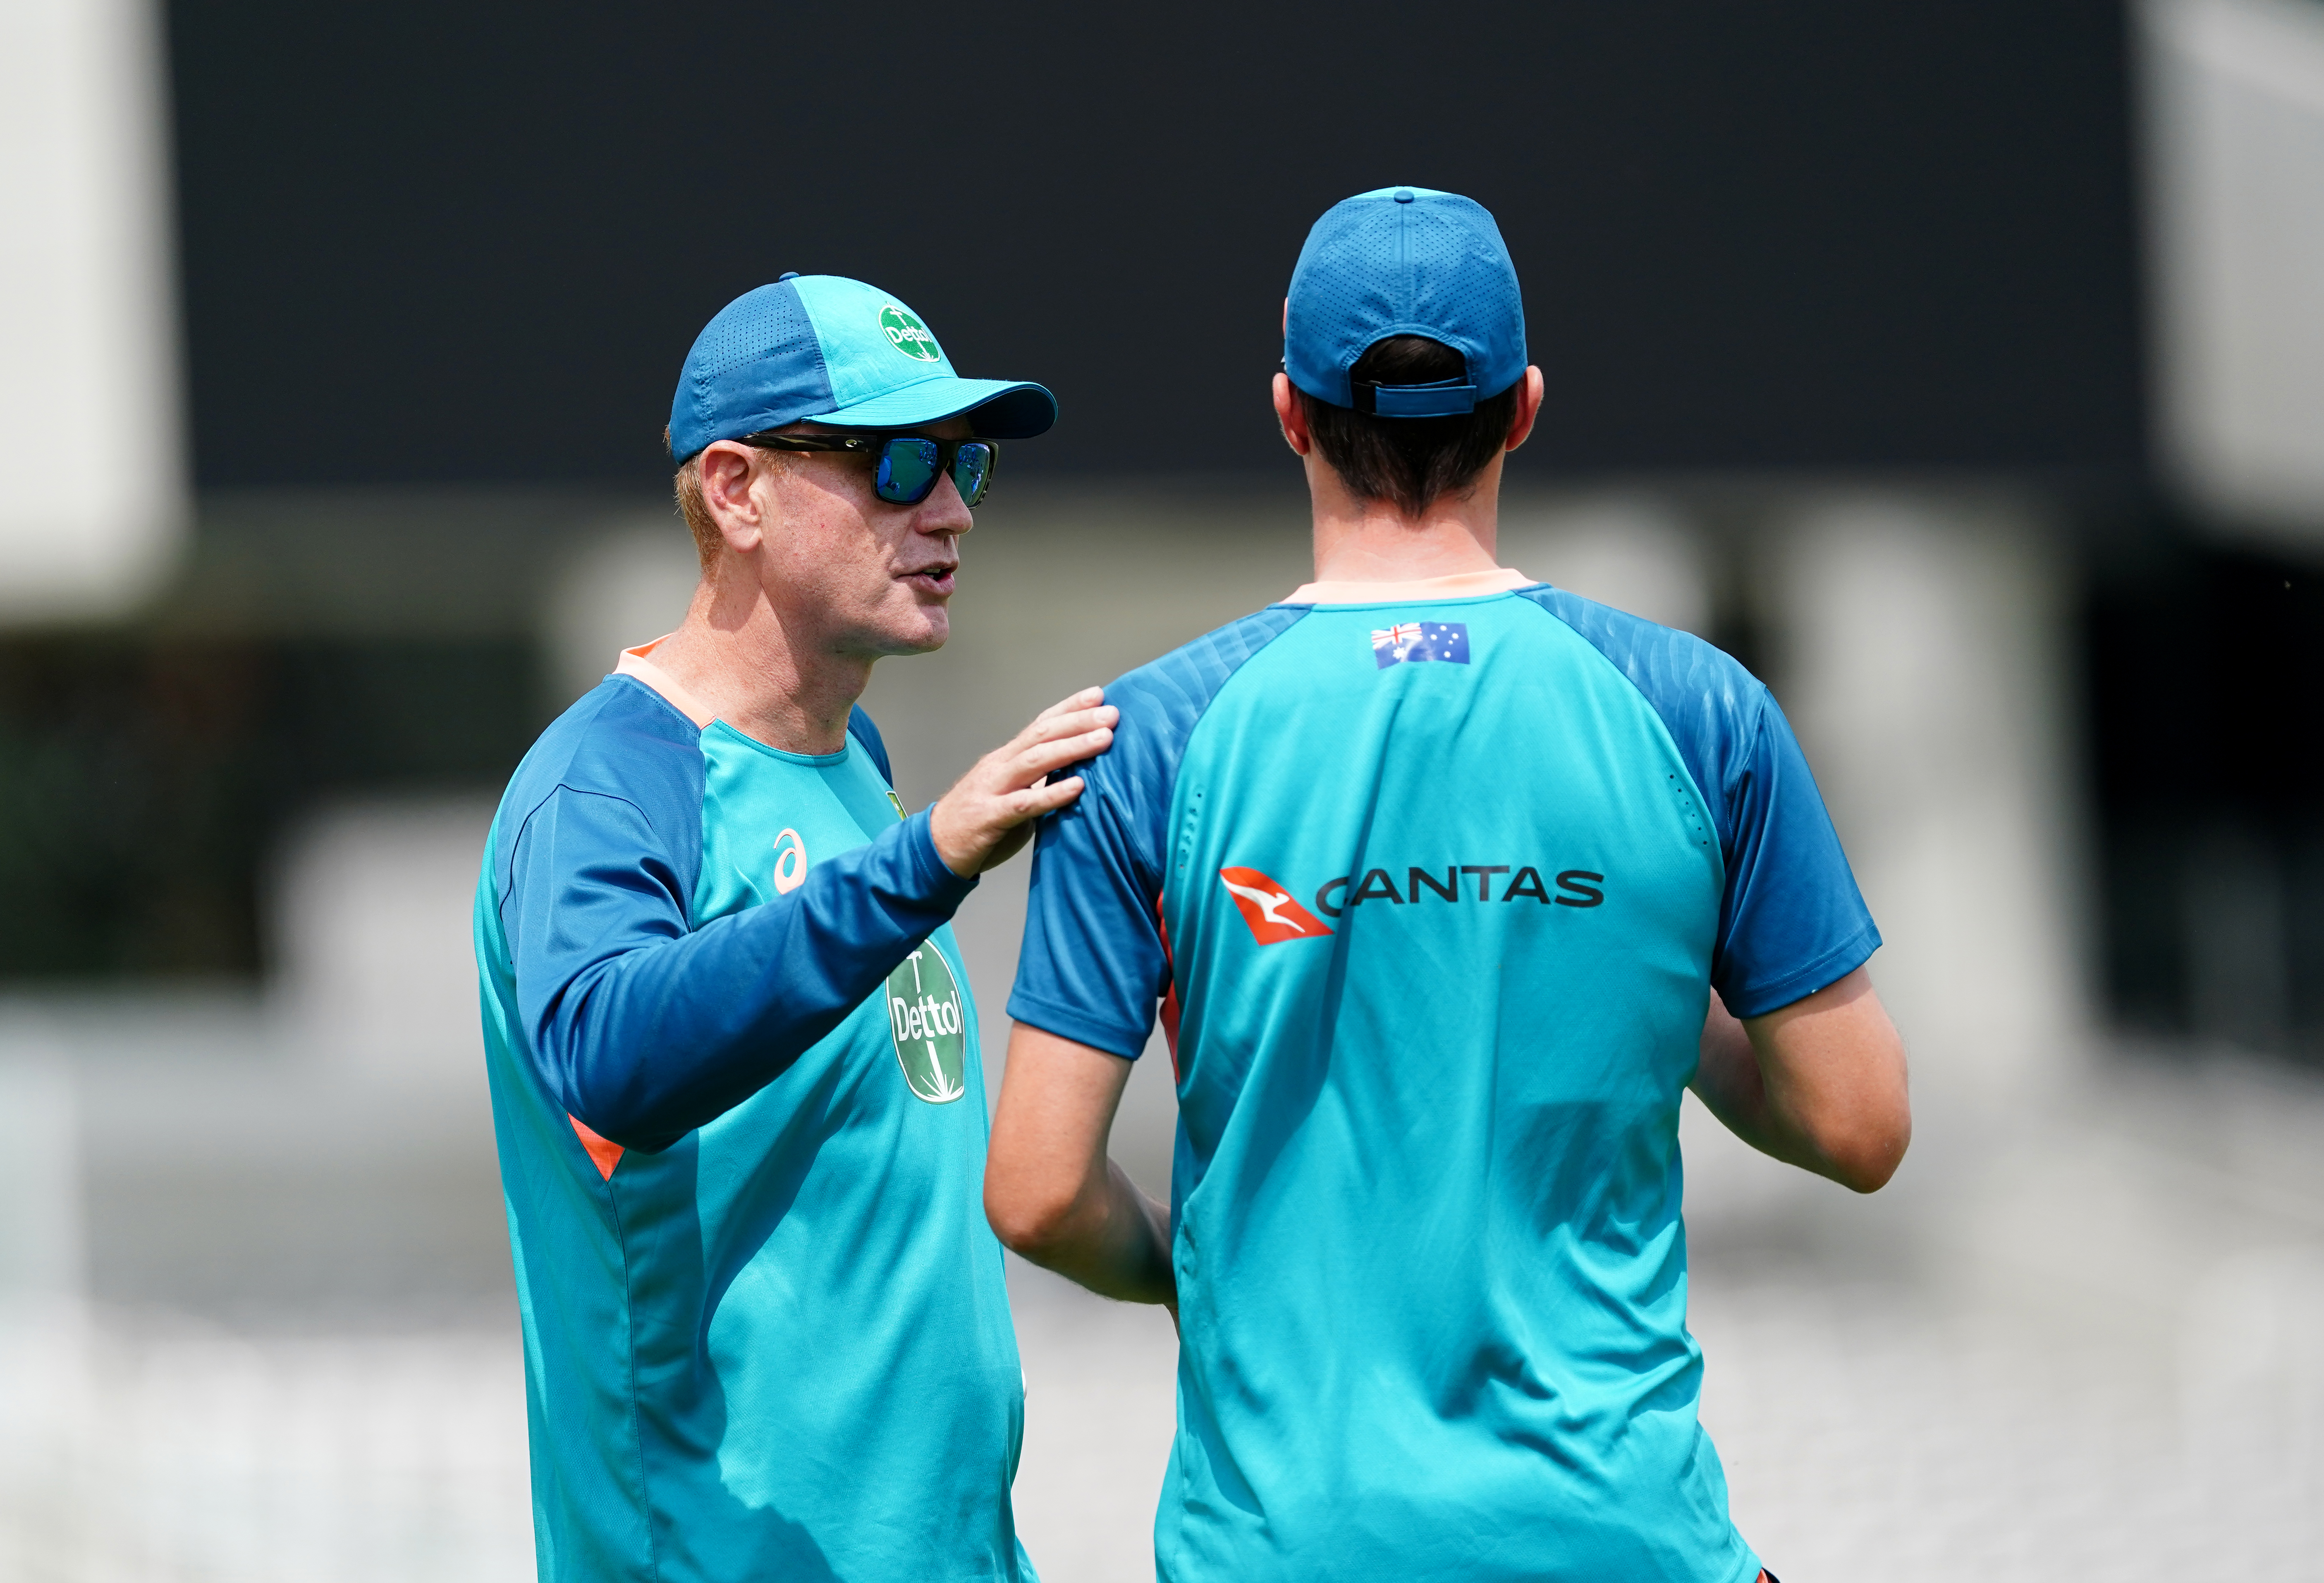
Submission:
{"label": "bare left-hand arm below the sleeve of the man facing away", "polygon": [[1132,1062],[1018,1023],[985,1158],[992,1232],[1043,1269],[1178,1311],[1169,1211],[1106,1158]]}

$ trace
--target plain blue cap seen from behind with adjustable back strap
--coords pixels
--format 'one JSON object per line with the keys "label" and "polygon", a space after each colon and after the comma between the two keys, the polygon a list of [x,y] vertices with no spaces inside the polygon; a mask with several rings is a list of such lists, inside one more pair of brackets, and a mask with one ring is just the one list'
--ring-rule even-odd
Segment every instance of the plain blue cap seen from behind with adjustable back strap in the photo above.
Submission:
{"label": "plain blue cap seen from behind with adjustable back strap", "polygon": [[[1390,335],[1427,335],[1469,360],[1466,379],[1350,386]],[[1525,300],[1485,205],[1425,186],[1346,198],[1315,221],[1292,270],[1283,372],[1320,402],[1383,418],[1476,411],[1525,377]]]}

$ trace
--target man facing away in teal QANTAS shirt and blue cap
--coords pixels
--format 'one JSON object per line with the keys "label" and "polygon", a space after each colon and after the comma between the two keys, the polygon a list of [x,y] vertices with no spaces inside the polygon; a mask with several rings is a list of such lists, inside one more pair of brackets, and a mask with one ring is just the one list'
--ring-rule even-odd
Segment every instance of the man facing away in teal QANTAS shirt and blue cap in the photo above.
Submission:
{"label": "man facing away in teal QANTAS shirt and blue cap", "polygon": [[[1882,1186],[1880,934],[1766,688],[1497,565],[1541,372],[1485,209],[1329,209],[1283,365],[1318,581],[1109,688],[1037,846],[985,1209],[1178,1316],[1171,1583],[1748,1583],[1680,1093]],[[1157,1000],[1169,1211],[1106,1160]]]}

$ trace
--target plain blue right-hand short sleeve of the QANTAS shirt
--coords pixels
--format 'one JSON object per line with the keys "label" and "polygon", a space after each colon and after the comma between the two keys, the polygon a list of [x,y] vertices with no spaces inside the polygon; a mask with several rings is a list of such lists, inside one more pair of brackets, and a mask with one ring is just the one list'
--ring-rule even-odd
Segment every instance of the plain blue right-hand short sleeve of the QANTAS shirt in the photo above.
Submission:
{"label": "plain blue right-hand short sleeve of the QANTAS shirt", "polygon": [[1710,986],[1734,1016],[1789,1007],[1880,948],[1792,723],[1757,681],[1748,697],[1713,793],[1727,814],[1727,895]]}

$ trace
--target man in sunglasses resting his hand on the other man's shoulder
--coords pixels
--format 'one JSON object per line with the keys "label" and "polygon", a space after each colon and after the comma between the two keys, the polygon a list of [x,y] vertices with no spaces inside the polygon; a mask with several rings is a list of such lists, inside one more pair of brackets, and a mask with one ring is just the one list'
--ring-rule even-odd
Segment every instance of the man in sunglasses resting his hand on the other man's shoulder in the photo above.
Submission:
{"label": "man in sunglasses resting his hand on the other man's shoulder", "polygon": [[541,1578],[1032,1578],[946,921],[1113,711],[1076,693],[906,818],[855,700],[944,644],[995,439],[1053,421],[830,274],[686,358],[702,583],[525,755],[476,888]]}

